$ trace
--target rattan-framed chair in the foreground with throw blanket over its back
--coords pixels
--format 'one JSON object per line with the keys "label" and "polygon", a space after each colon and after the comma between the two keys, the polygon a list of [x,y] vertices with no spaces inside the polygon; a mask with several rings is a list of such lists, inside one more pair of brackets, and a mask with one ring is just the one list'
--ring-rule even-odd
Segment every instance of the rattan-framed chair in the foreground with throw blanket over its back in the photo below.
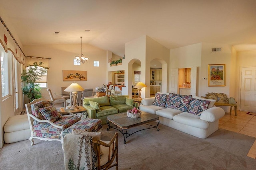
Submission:
{"label": "rattan-framed chair in the foreground with throw blanket over its back", "polygon": [[[65,169],[69,169],[68,166],[73,165],[71,167],[73,169],[85,166],[88,169],[108,170],[116,166],[116,170],[118,170],[117,132],[110,141],[95,140],[89,135],[67,134],[63,143]],[[93,149],[95,152],[92,152]],[[100,151],[103,154],[100,154]],[[114,160],[116,161],[114,162]]]}

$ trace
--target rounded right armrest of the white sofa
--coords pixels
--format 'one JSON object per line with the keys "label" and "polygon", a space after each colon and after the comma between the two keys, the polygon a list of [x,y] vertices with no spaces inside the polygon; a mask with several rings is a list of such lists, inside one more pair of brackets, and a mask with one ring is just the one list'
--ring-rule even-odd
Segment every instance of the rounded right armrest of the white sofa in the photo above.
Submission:
{"label": "rounded right armrest of the white sofa", "polygon": [[202,112],[200,115],[201,120],[214,122],[225,115],[225,111],[220,107],[212,107]]}

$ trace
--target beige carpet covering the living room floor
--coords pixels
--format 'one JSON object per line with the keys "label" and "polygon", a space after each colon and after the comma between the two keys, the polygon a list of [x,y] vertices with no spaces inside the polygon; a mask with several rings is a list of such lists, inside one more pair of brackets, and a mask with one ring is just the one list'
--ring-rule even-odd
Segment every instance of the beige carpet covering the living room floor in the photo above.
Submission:
{"label": "beige carpet covering the living room floor", "polygon": [[[102,139],[115,132],[106,131],[106,127]],[[147,129],[135,133],[127,138],[126,144],[118,132],[119,170],[256,169],[256,160],[246,156],[255,141],[253,137],[219,129],[207,139],[199,139],[164,125],[159,128],[160,131]],[[35,140],[34,146],[30,146],[29,140],[5,144],[0,150],[0,169],[63,170],[61,144],[40,140]]]}

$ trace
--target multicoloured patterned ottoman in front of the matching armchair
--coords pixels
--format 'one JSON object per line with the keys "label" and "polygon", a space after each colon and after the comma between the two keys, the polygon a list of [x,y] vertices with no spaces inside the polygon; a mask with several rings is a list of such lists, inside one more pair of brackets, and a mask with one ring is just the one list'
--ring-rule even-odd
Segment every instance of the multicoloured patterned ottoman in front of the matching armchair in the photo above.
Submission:
{"label": "multicoloured patterned ottoman in front of the matching armchair", "polygon": [[76,122],[74,125],[71,125],[63,131],[63,136],[68,133],[72,133],[72,129],[83,129],[88,132],[98,132],[102,129],[102,120],[101,119],[81,119]]}

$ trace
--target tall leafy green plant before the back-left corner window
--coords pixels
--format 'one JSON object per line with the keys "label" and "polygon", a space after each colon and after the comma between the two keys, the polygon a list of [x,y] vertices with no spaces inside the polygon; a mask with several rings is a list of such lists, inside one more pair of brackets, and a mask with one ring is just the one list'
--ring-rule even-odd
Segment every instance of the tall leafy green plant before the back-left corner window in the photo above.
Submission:
{"label": "tall leafy green plant before the back-left corner window", "polygon": [[39,63],[34,62],[33,65],[28,65],[28,69],[24,70],[21,74],[21,80],[24,81],[22,92],[28,97],[30,102],[42,97],[40,93],[41,88],[36,82],[38,82],[49,69],[49,67],[44,67],[42,64],[42,61]]}

